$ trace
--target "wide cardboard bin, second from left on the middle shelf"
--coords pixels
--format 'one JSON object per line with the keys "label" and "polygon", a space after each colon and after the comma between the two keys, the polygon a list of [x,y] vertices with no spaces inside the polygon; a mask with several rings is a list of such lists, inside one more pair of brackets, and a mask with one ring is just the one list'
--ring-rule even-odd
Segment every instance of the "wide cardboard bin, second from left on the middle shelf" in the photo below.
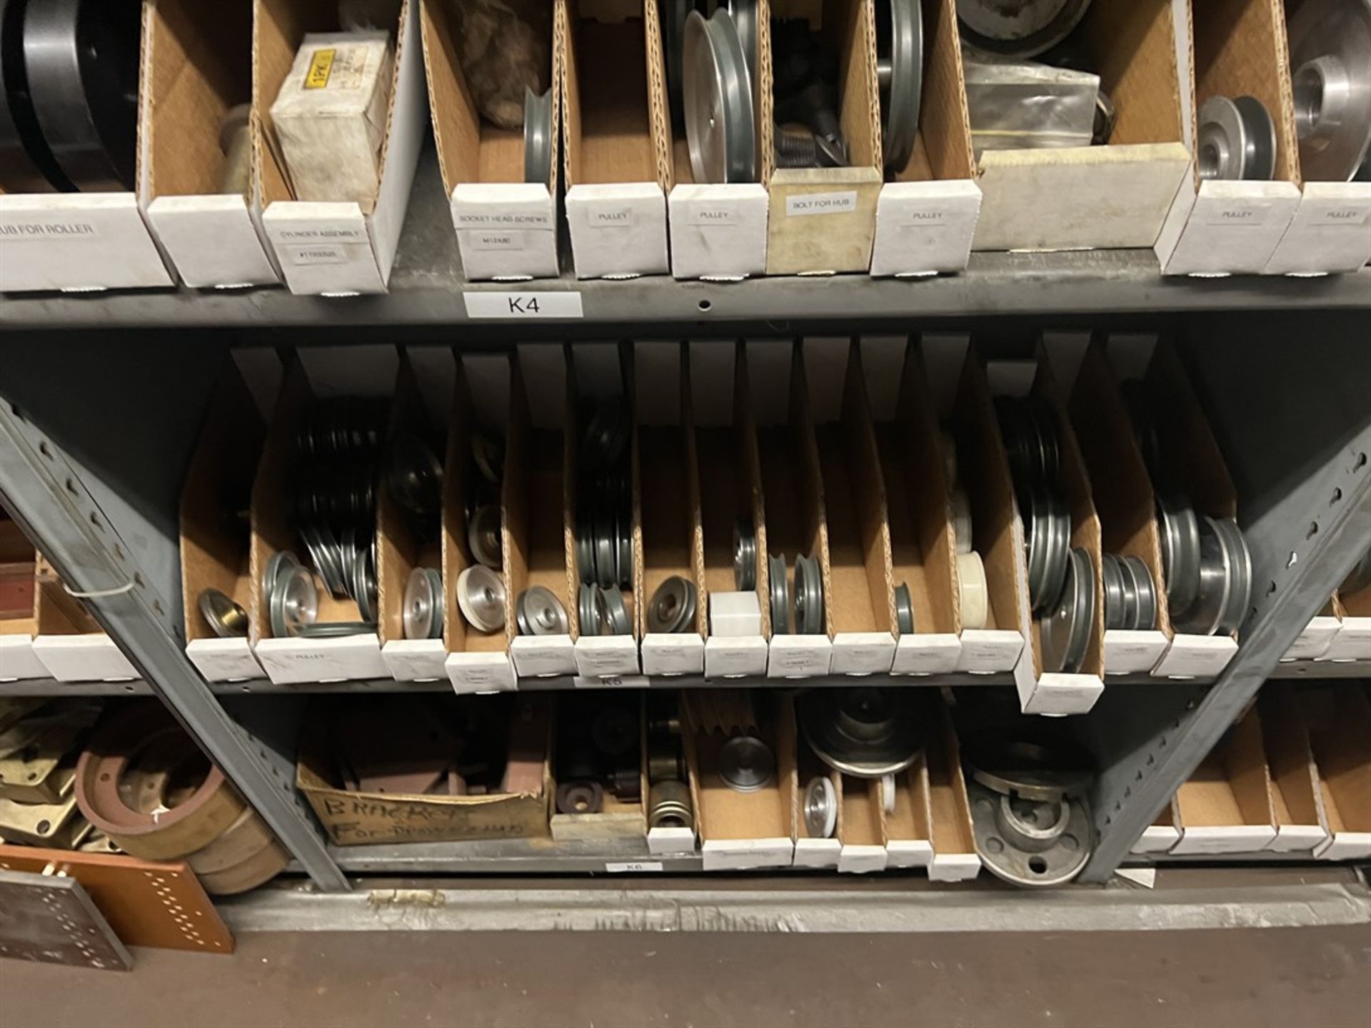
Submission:
{"label": "wide cardboard bin, second from left on the middle shelf", "polygon": [[[252,548],[250,574],[248,639],[267,677],[277,684],[387,678],[377,635],[341,639],[273,639],[262,578],[273,554],[288,550],[308,567],[308,551],[291,522],[300,459],[296,439],[310,407],[325,396],[389,397],[395,384],[396,354],[391,347],[299,350],[287,369],[267,425],[262,459],[252,482]],[[380,569],[378,569],[380,570]],[[324,578],[311,569],[318,592],[318,622],[359,621],[352,599],[335,599]]]}

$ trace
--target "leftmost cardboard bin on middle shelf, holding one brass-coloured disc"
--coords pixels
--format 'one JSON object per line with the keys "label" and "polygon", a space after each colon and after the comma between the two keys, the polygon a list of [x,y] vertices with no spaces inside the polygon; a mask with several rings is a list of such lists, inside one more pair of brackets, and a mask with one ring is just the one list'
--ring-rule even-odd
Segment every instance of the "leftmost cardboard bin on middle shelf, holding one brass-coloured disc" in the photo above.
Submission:
{"label": "leftmost cardboard bin on middle shelf, holding one brass-coloured disc", "polygon": [[221,639],[199,602],[204,589],[218,589],[243,610],[252,606],[252,478],[265,439],[266,425],[241,374],[225,367],[181,484],[180,506],[185,655],[208,681],[266,677],[247,636]]}

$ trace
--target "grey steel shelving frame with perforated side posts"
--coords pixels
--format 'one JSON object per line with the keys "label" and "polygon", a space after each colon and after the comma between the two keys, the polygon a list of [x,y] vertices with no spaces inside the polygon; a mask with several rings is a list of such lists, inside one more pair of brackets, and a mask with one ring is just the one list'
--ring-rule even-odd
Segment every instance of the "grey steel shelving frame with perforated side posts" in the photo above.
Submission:
{"label": "grey steel shelving frame with perforated side posts", "polygon": [[[908,333],[951,325],[1004,333],[1141,323],[1183,336],[1238,485],[1256,589],[1238,654],[1215,683],[1149,688],[1145,681],[1109,680],[1095,710],[1080,718],[1102,765],[1090,881],[1105,880],[1128,859],[1132,842],[1268,676],[1367,672],[1279,658],[1371,539],[1371,348],[1364,344],[1371,270],[1312,281],[1172,281],[1157,274],[1148,252],[1100,252],[978,255],[965,274],[928,281],[563,278],[517,289],[579,292],[584,318],[577,323],[474,323],[466,318],[463,295],[511,286],[461,281],[436,182],[432,169],[421,169],[388,296],[326,300],[280,289],[182,289],[0,302],[0,495],[63,578],[95,593],[89,604],[96,618],[143,674],[136,683],[10,683],[0,694],[160,696],[321,888],[345,890],[347,874],[359,872],[603,870],[606,861],[643,854],[326,844],[293,788],[299,698],[400,687],[210,687],[182,648],[177,495],[195,429],[232,345],[376,341],[376,326],[388,329],[385,341],[406,345],[481,347],[603,337],[607,326],[610,334],[727,339],[744,332]],[[1313,336],[1316,343],[1305,343]],[[997,684],[984,676],[967,678],[923,681]],[[574,687],[570,680],[543,684]],[[677,866],[670,858],[664,869],[696,866],[694,857],[680,861]]]}

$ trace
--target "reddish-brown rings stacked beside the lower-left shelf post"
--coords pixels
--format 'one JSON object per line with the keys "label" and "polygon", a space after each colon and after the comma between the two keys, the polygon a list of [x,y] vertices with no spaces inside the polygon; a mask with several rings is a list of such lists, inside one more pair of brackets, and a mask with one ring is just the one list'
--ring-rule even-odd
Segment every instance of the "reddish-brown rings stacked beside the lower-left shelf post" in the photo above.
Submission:
{"label": "reddish-brown rings stacked beside the lower-left shelf post", "polygon": [[77,762],[81,813],[121,850],[184,859],[207,892],[256,888],[289,854],[156,702],[130,700],[97,725]]}

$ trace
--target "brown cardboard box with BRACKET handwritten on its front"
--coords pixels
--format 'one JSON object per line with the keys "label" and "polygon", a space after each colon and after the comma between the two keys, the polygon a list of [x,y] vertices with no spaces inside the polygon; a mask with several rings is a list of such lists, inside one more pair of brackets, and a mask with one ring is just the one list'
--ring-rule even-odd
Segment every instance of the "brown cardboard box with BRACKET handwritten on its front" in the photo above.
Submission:
{"label": "brown cardboard box with BRACKET handwritten on its front", "polygon": [[[507,702],[505,702],[507,700]],[[361,711],[359,707],[370,703]],[[548,703],[546,696],[452,698],[387,696],[333,698],[315,703],[304,721],[295,770],[295,784],[314,807],[319,822],[339,846],[366,843],[441,843],[469,839],[544,839],[548,835],[547,805],[551,796],[548,766]],[[418,759],[387,755],[370,769],[356,766],[356,754],[339,750],[340,718],[370,718],[373,724],[395,725],[392,731],[413,731],[414,746],[407,755],[432,757],[446,744],[451,757],[433,792],[409,794],[361,788],[376,777],[392,774],[403,781],[421,777]],[[451,772],[462,773],[468,743],[452,732],[454,722],[474,718],[481,725],[476,736],[491,747],[477,754],[481,761],[505,761],[499,788],[480,795],[451,795],[437,788],[450,785]],[[413,726],[413,728],[411,728]],[[348,757],[344,765],[340,758]],[[430,763],[430,761],[428,762]],[[350,784],[351,781],[351,784]]]}

